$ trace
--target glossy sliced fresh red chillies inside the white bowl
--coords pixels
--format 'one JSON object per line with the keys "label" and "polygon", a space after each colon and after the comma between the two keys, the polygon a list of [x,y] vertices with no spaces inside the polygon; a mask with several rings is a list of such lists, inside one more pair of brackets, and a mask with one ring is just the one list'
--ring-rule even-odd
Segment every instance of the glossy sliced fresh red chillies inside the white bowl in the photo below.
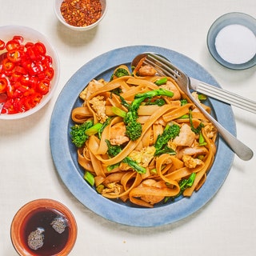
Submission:
{"label": "glossy sliced fresh red chillies inside the white bowl", "polygon": [[8,42],[0,40],[1,47],[6,54],[0,59],[0,93],[7,94],[2,114],[30,110],[50,90],[54,77],[52,58],[42,42],[25,43],[19,35]]}

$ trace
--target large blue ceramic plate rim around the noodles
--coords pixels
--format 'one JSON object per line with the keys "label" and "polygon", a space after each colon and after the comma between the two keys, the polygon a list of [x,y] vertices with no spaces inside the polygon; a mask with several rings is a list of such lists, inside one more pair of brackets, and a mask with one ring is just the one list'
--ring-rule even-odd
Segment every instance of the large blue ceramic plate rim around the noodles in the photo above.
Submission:
{"label": "large blue ceramic plate rim around the noodles", "polygon": [[[113,222],[129,226],[161,226],[177,222],[194,214],[209,202],[222,186],[233,163],[234,153],[218,139],[218,151],[206,183],[190,198],[178,198],[177,201],[159,204],[153,209],[138,208],[129,203],[115,202],[103,198],[83,179],[83,170],[78,166],[76,148],[70,141],[70,126],[73,125],[70,114],[75,106],[80,106],[78,95],[93,78],[105,78],[109,81],[114,68],[120,64],[130,66],[130,62],[143,52],[162,54],[174,62],[191,77],[218,86],[214,78],[190,58],[156,46],[129,46],[111,50],[87,62],[66,83],[54,106],[50,121],[50,148],[54,164],[67,188],[84,206],[94,213]],[[209,102],[214,109],[218,122],[230,133],[236,134],[234,114],[229,105],[217,100]]]}

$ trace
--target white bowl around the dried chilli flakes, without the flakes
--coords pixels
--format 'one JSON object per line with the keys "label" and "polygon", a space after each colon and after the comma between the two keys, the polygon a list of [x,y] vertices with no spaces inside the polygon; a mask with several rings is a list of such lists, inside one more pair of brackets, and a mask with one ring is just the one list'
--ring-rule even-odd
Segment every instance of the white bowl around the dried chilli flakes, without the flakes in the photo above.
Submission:
{"label": "white bowl around the dried chilli flakes, without the flakes", "polygon": [[99,22],[102,21],[102,19],[104,18],[105,14],[106,14],[106,0],[100,0],[101,4],[102,4],[102,16],[98,19],[97,22],[94,22],[93,24],[89,25],[89,26],[71,26],[70,24],[68,24],[65,19],[63,18],[62,14],[61,14],[61,5],[62,5],[63,0],[55,0],[54,1],[54,10],[55,10],[55,14],[58,17],[58,20],[60,22],[62,22],[62,24],[64,24],[66,27],[70,28],[71,30],[78,30],[78,31],[86,31],[86,30],[91,30],[92,28],[94,28],[95,26],[98,25]]}

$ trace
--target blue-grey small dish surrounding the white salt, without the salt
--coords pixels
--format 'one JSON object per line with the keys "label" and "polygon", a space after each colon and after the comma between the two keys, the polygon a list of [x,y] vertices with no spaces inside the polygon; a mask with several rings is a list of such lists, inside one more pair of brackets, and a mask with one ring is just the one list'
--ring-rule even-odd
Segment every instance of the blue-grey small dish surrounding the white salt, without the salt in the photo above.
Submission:
{"label": "blue-grey small dish surrounding the white salt, without the salt", "polygon": [[[218,54],[218,51],[216,50],[216,46],[215,46],[216,37],[223,28],[229,25],[246,26],[246,28],[251,30],[256,36],[256,19],[254,19],[250,15],[237,13],[237,12],[224,14],[220,18],[218,18],[212,24],[212,26],[210,26],[210,30],[208,31],[207,46],[208,46],[208,50],[210,51],[210,54],[214,57],[214,59],[218,63],[222,64],[222,66],[226,66],[231,70],[246,70],[256,65],[256,54],[254,55],[254,58],[250,59],[250,61],[244,62],[242,64],[233,64],[233,63],[227,62]],[[238,37],[239,37],[239,34],[238,34]]]}

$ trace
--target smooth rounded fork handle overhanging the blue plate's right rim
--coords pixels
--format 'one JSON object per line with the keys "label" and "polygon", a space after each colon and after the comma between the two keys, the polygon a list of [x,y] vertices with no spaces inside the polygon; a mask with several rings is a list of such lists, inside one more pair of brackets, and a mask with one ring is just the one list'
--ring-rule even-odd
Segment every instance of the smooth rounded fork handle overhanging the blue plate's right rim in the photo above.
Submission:
{"label": "smooth rounded fork handle overhanging the blue plate's right rim", "polygon": [[202,111],[202,114],[214,124],[214,126],[218,129],[218,133],[222,135],[222,138],[225,139],[230,149],[234,151],[235,154],[238,155],[242,160],[250,160],[254,156],[254,152],[246,146],[244,143],[235,138],[233,134],[230,134],[226,128],[224,128],[219,122],[217,122],[206,110],[200,106],[200,104],[193,98],[190,98],[195,106],[198,106],[198,109]]}

